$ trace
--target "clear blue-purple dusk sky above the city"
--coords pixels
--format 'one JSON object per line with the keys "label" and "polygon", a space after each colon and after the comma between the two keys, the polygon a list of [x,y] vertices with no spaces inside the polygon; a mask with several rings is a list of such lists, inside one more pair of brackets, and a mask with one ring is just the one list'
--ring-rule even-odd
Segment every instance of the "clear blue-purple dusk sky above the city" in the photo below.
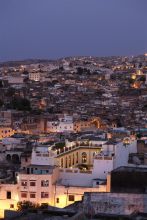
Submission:
{"label": "clear blue-purple dusk sky above the city", "polygon": [[0,61],[147,51],[147,0],[0,0]]}

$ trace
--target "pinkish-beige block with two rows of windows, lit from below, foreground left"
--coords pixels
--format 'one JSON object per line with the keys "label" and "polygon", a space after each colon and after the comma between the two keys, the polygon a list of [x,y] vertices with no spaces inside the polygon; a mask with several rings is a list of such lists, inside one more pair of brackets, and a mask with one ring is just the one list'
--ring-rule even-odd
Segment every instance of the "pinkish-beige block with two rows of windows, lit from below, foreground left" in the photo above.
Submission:
{"label": "pinkish-beige block with two rows of windows, lit from below, foreground left", "polygon": [[58,168],[47,165],[30,165],[18,175],[19,201],[54,204],[54,186]]}

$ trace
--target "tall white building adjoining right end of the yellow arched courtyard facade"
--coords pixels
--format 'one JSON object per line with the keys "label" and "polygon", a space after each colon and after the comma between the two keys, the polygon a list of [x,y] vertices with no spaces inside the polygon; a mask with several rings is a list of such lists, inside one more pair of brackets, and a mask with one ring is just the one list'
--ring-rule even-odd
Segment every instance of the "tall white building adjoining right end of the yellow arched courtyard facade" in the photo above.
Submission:
{"label": "tall white building adjoining right end of the yellow arched courtyard facade", "polygon": [[101,153],[97,154],[93,164],[93,176],[106,178],[108,173],[120,166],[128,166],[130,153],[137,153],[137,142],[107,142],[102,146]]}

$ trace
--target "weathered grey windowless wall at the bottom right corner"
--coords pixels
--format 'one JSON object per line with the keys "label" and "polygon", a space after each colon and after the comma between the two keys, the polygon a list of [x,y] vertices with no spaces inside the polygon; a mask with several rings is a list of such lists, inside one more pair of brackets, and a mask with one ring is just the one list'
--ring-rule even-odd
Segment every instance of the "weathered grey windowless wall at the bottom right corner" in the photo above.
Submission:
{"label": "weathered grey windowless wall at the bottom right corner", "polygon": [[94,217],[103,215],[128,216],[136,212],[147,213],[147,194],[85,193],[84,212]]}

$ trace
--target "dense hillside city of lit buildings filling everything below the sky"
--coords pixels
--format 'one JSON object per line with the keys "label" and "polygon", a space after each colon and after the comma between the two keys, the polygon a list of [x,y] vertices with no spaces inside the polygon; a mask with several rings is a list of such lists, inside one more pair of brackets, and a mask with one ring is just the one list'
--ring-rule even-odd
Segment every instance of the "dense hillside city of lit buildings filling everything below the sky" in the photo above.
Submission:
{"label": "dense hillside city of lit buildings filling everything below the sky", "polygon": [[0,93],[1,218],[146,219],[147,54],[1,62]]}

